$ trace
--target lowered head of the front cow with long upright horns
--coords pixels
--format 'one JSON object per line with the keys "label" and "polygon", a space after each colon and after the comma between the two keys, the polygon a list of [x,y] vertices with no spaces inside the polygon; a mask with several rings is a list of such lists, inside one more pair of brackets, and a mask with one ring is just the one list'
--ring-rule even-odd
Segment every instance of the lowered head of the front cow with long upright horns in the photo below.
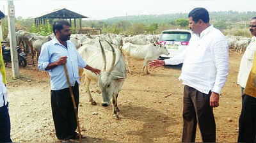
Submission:
{"label": "lowered head of the front cow with long upright horns", "polygon": [[109,42],[108,44],[112,49],[113,61],[111,63],[110,68],[106,70],[106,55],[102,47],[102,44],[100,43],[100,49],[103,57],[103,69],[99,75],[98,85],[102,91],[102,106],[104,107],[107,107],[110,104],[113,96],[118,93],[120,81],[124,80],[124,77],[119,76],[122,74],[118,74],[117,71],[113,72],[113,68],[115,67],[116,61],[116,53],[113,46]]}

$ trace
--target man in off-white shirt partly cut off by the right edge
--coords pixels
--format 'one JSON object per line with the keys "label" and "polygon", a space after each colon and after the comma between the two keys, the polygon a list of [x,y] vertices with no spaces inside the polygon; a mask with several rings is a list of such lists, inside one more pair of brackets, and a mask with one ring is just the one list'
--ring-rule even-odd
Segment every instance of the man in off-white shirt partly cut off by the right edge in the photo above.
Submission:
{"label": "man in off-white shirt partly cut off by the right edge", "polygon": [[[252,41],[246,48],[244,55],[241,59],[240,68],[237,76],[237,84],[241,86],[242,96],[244,94],[244,88],[246,86],[246,82],[249,76],[250,71],[252,70],[253,57],[256,50],[256,17],[253,17],[250,22],[250,32],[253,35]],[[242,98],[243,104],[243,98]]]}

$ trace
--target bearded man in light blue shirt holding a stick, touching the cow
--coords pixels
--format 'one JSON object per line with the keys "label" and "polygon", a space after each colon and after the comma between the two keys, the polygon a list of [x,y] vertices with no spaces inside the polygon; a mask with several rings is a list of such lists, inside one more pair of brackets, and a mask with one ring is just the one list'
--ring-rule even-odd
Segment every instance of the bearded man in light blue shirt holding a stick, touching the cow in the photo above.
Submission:
{"label": "bearded man in light blue shirt holding a stick, touching the cow", "polygon": [[[97,75],[100,74],[99,69],[92,68],[83,61],[75,45],[69,41],[71,35],[69,26],[70,24],[65,20],[54,22],[52,31],[55,37],[42,45],[38,59],[38,69],[49,72],[51,77],[52,117],[56,136],[62,142],[79,139],[79,134],[76,133],[77,120],[74,105],[62,65],[67,65],[68,78],[77,108],[79,104],[78,66]],[[82,138],[85,138],[85,136],[82,135]]]}

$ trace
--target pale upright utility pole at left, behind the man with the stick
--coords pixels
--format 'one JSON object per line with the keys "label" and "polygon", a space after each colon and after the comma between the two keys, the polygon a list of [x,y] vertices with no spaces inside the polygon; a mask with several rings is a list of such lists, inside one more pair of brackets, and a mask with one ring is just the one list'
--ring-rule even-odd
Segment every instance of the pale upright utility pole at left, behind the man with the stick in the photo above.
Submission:
{"label": "pale upright utility pole at left, behind the man with the stick", "polygon": [[17,43],[15,34],[15,11],[13,0],[8,1],[8,29],[10,34],[10,47],[11,47],[11,59],[12,59],[12,77],[13,79],[19,79],[19,61],[17,54]]}

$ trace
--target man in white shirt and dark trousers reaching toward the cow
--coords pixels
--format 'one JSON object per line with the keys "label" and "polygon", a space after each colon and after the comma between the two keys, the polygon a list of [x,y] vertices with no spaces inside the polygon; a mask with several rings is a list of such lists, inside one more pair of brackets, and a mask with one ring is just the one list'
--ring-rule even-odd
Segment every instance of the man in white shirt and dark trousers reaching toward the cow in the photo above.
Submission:
{"label": "man in white shirt and dark trousers reaching toward the cow", "polygon": [[[182,73],[184,84],[182,142],[195,142],[196,125],[203,142],[216,142],[213,107],[219,106],[219,94],[229,70],[228,41],[209,24],[205,8],[189,12],[189,28],[193,31],[184,54]],[[154,60],[150,67],[173,64],[176,59]]]}

